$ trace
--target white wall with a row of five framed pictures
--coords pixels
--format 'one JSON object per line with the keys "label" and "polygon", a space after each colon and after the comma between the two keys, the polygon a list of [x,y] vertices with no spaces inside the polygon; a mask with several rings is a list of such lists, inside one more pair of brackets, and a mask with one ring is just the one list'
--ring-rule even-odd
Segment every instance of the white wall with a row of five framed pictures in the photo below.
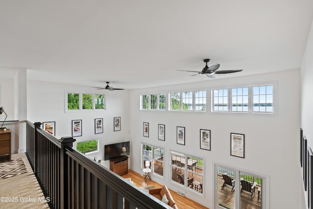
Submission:
{"label": "white wall with a row of five framed pictures", "polygon": [[[140,94],[166,93],[172,91],[207,90],[211,88],[275,83],[274,114],[245,113],[192,113],[170,111],[140,111]],[[230,79],[213,80],[132,90],[130,92],[130,130],[132,168],[142,173],[140,166],[140,143],[145,142],[165,148],[165,178],[153,179],[168,187],[183,191],[209,208],[214,205],[214,165],[220,162],[268,175],[270,178],[270,208],[298,208],[299,197],[299,150],[300,124],[300,70],[260,74]],[[210,104],[211,98],[208,98]],[[208,106],[210,107],[210,105]],[[210,109],[210,108],[208,108]],[[142,123],[149,122],[149,138],[143,137]],[[157,124],[165,124],[165,141],[157,139]],[[185,127],[185,146],[176,143],[176,126]],[[211,130],[211,151],[200,149],[200,129]],[[230,133],[245,134],[245,159],[230,156]],[[169,151],[198,156],[205,160],[203,196],[185,190],[170,182]],[[136,154],[134,154],[136,153]],[[284,192],[284,190],[286,192]],[[287,192],[288,190],[288,192]],[[292,201],[286,201],[292,200]]]}

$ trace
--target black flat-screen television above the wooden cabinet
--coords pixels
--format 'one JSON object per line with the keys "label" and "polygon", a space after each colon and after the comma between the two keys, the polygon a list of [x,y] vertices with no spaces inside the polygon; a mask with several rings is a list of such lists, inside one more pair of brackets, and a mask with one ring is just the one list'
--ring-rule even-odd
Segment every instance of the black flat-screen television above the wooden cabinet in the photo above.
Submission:
{"label": "black flat-screen television above the wooden cabinet", "polygon": [[129,155],[129,141],[104,145],[104,160]]}

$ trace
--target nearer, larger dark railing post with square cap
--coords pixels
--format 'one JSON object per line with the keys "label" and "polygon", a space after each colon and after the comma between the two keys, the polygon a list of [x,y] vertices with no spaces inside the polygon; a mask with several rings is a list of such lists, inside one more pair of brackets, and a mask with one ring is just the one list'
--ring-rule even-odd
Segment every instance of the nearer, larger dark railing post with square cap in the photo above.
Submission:
{"label": "nearer, larger dark railing post with square cap", "polygon": [[66,209],[67,207],[67,181],[68,181],[68,172],[67,172],[67,155],[65,153],[65,149],[67,147],[73,147],[73,142],[76,139],[72,137],[62,137],[59,139],[61,142],[61,150],[60,150],[60,208]]}

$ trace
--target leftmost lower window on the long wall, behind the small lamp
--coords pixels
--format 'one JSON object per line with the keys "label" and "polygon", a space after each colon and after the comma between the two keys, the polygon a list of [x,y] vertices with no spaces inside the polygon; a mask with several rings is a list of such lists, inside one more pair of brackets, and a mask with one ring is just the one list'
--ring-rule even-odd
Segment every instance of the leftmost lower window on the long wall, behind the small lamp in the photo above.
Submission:
{"label": "leftmost lower window on the long wall, behind the small lamp", "polygon": [[149,161],[151,172],[159,176],[164,176],[164,148],[142,143],[141,151],[141,167],[146,168],[146,162]]}

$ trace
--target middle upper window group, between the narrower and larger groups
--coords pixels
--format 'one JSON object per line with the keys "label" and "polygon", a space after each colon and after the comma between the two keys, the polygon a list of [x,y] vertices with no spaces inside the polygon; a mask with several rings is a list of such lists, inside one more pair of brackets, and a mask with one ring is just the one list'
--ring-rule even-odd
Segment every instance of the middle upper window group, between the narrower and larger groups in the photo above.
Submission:
{"label": "middle upper window group, between the narrower and larger groups", "polygon": [[169,93],[171,111],[206,111],[206,91]]}

